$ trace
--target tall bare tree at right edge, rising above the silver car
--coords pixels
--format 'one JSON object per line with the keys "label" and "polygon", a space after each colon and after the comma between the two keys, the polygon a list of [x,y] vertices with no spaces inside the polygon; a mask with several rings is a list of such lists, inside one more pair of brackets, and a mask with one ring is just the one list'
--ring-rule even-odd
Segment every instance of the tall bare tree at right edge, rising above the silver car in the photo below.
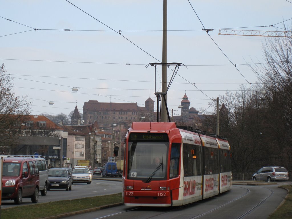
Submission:
{"label": "tall bare tree at right edge, rising above the silver car", "polygon": [[265,90],[267,162],[288,168],[292,166],[292,34],[286,34],[267,39],[263,44],[266,63],[251,69]]}

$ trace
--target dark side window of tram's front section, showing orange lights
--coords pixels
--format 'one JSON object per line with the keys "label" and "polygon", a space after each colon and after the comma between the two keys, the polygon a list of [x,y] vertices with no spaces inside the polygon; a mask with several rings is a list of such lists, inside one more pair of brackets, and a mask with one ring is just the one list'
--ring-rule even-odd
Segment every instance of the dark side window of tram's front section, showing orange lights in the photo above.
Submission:
{"label": "dark side window of tram's front section, showing orange lights", "polygon": [[[195,151],[196,159],[193,158],[192,150]],[[201,175],[201,147],[183,145],[183,170],[184,176]]]}

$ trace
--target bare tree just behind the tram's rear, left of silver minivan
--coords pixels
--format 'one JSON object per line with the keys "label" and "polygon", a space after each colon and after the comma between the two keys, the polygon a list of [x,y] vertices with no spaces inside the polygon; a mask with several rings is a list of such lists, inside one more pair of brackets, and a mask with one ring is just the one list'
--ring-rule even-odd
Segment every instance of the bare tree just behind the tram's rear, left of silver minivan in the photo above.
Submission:
{"label": "bare tree just behind the tram's rear, left of silver minivan", "polygon": [[[251,170],[257,168],[265,154],[261,152],[263,128],[261,105],[257,91],[241,86],[237,92],[220,96],[220,131],[231,146],[232,168]],[[214,127],[215,117],[210,120]]]}

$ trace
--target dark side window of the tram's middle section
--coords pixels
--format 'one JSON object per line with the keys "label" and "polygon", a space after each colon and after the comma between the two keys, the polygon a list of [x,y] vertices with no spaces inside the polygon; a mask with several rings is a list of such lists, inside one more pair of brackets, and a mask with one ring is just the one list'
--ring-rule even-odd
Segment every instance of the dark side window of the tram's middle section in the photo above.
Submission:
{"label": "dark side window of the tram's middle section", "polygon": [[205,147],[205,174],[219,173],[218,149]]}

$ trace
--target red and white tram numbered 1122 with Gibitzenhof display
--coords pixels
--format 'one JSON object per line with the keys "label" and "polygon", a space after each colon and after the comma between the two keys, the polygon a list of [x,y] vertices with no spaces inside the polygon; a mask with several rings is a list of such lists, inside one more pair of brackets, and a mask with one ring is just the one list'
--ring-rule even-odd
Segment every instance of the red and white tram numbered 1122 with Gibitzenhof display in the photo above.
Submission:
{"label": "red and white tram numbered 1122 with Gibitzenhof display", "polygon": [[197,132],[133,122],[125,141],[126,206],[181,206],[231,189],[228,141]]}

